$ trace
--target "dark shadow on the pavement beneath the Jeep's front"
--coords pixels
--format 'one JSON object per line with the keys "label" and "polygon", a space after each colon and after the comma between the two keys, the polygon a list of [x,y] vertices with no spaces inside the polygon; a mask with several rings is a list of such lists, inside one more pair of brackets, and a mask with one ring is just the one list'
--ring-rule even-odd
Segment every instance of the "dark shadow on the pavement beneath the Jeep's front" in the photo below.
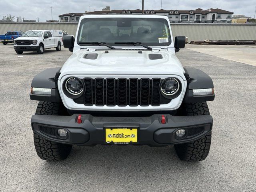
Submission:
{"label": "dark shadow on the pavement beneath the Jeep's front", "polygon": [[[181,161],[175,153],[174,146],[74,146],[70,156],[59,162],[46,162],[42,168],[44,174],[57,177],[94,177],[105,180],[110,177],[119,179],[122,176],[135,177],[140,180],[143,175],[169,175],[182,171],[200,169],[198,162]],[[86,180],[86,179],[85,179]]]}

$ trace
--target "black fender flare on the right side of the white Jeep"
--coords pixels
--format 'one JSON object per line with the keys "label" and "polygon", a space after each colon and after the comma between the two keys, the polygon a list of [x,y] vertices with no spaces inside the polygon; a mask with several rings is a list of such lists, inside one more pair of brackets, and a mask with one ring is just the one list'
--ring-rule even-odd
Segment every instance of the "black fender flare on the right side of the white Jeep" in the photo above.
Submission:
{"label": "black fender flare on the right side of the white Jeep", "polygon": [[184,68],[187,80],[187,89],[183,99],[183,103],[196,103],[213,101],[215,94],[194,96],[193,89],[214,88],[212,78],[205,72],[195,68]]}

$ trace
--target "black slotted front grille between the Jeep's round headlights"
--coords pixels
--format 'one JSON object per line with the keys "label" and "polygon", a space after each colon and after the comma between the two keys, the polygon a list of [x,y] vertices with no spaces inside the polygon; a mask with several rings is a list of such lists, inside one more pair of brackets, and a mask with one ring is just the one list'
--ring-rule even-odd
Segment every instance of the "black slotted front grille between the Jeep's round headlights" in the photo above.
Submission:
{"label": "black slotted front grille between the Jeep's round headlights", "polygon": [[84,78],[85,91],[74,99],[86,106],[159,106],[171,100],[161,96],[160,78]]}

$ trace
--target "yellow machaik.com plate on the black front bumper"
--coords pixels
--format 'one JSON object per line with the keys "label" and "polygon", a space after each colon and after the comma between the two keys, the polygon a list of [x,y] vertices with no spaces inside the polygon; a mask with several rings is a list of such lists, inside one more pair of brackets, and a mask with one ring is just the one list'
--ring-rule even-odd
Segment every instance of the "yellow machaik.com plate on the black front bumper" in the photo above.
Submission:
{"label": "yellow machaik.com plate on the black front bumper", "polygon": [[131,144],[138,142],[138,128],[105,128],[105,141],[108,144]]}

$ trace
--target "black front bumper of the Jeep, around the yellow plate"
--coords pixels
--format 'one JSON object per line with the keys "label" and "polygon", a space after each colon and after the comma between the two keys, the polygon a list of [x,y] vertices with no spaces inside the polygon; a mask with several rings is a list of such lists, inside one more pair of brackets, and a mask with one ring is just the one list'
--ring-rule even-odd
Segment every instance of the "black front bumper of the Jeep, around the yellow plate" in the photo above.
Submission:
{"label": "black front bumper of the Jeep, around the yellow plate", "polygon": [[[104,137],[105,127],[138,127],[139,145],[165,146],[191,142],[205,136],[212,130],[212,116],[171,116],[170,114],[150,117],[95,117],[82,114],[82,123],[77,123],[79,114],[72,116],[33,115],[32,129],[36,134],[50,141],[65,144],[93,146],[107,144]],[[162,115],[166,123],[161,122]],[[58,129],[68,132],[66,138],[58,135]],[[176,131],[185,129],[186,135],[177,138]]]}

